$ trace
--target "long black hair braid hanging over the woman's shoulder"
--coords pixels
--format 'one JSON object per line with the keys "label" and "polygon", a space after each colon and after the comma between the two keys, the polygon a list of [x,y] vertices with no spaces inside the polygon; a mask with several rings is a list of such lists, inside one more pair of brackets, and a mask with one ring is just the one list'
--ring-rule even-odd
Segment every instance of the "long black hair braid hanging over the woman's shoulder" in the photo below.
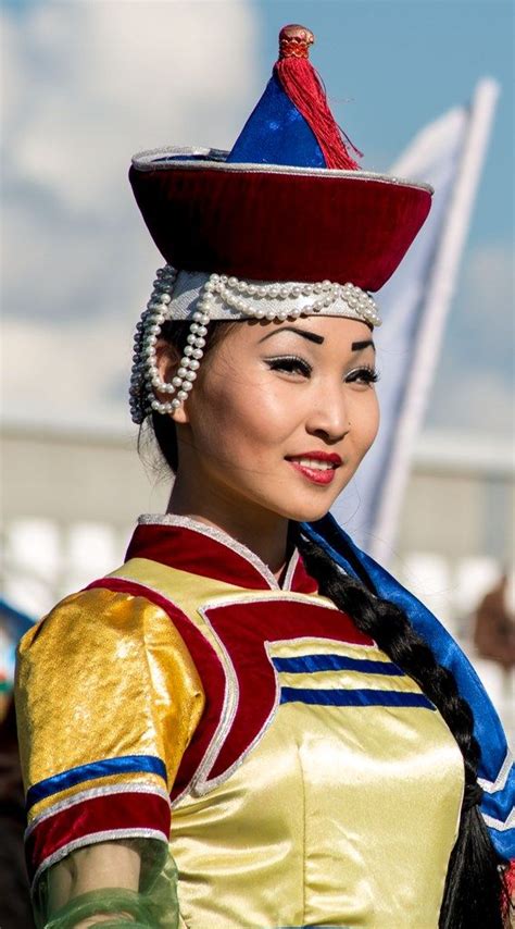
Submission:
{"label": "long black hair braid hanging over the woman's shoulder", "polygon": [[474,717],[460,696],[451,671],[439,665],[430,647],[414,631],[405,612],[370,593],[344,574],[315,543],[300,537],[299,549],[307,570],[336,606],[352,617],[399,667],[422,688],[445,720],[463,755],[465,801],[459,835],[449,862],[440,912],[440,929],[503,929],[507,921],[507,894],[501,859],[477,803],[467,802],[477,790],[479,744]]}

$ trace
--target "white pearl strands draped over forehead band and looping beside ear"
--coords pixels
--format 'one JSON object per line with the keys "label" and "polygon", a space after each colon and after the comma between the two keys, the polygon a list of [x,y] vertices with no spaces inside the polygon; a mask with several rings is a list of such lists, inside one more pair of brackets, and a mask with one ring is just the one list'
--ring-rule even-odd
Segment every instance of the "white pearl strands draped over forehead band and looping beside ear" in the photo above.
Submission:
{"label": "white pearl strands draped over forehead band and looping beside ear", "polygon": [[[151,411],[174,413],[188,398],[204,354],[208,324],[211,319],[216,319],[214,297],[218,297],[237,313],[250,319],[271,321],[319,313],[328,309],[335,300],[341,299],[365,322],[370,325],[381,324],[373,298],[354,284],[332,284],[330,281],[322,281],[319,284],[250,284],[238,277],[211,274],[200,293],[179,367],[172,382],[168,383],[160,376],[155,346],[163,323],[173,319],[168,305],[172,301],[177,271],[169,264],[156,272],[154,289],[136,326],[129,394],[131,419],[138,425]],[[286,300],[301,296],[315,297],[315,299],[304,307],[264,310],[250,306],[244,299],[246,296],[258,300],[266,298]],[[161,401],[155,396],[158,391],[176,396],[173,400]]]}

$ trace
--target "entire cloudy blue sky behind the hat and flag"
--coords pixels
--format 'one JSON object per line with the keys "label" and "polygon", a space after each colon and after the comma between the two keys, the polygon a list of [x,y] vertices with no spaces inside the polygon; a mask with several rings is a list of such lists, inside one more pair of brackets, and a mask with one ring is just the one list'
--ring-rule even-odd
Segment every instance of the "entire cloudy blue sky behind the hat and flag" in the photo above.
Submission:
{"label": "entire cloudy blue sky behind the hat and flag", "polygon": [[481,77],[501,85],[425,428],[508,438],[513,10],[504,0],[4,0],[2,417],[129,429],[133,331],[162,263],[131,199],[130,156],[230,148],[280,27],[301,22],[369,170],[387,171]]}

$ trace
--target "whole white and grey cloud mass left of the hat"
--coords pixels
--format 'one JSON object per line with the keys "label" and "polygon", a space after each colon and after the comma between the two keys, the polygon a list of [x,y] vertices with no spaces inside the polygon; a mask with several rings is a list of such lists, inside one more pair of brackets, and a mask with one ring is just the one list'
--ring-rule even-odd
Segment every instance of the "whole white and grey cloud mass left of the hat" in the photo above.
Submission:
{"label": "whole white and grey cloud mass left of the hat", "polygon": [[261,87],[244,0],[4,8],[3,414],[125,410],[131,330],[162,263],[134,152],[230,147]]}

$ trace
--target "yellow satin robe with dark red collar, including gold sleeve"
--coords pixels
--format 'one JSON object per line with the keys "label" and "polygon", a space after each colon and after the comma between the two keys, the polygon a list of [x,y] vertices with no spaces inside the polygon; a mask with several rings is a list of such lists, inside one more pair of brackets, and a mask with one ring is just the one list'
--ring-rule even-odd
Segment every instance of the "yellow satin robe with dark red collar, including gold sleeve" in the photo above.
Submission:
{"label": "yellow satin robe with dark red collar, including gold sleeve", "polygon": [[223,533],[143,518],[26,634],[17,707],[36,883],[134,837],[169,842],[188,929],[437,929],[461,753],[297,554],[279,586]]}

